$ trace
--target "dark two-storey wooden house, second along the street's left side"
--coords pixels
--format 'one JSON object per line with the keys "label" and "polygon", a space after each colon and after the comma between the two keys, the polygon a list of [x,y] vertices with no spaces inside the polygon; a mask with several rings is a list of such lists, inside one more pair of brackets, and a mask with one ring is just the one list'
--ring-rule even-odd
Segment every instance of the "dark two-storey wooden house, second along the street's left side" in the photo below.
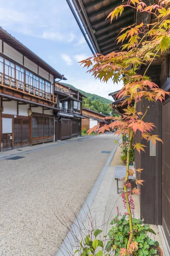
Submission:
{"label": "dark two-storey wooden house, second along the street's left side", "polygon": [[55,140],[81,136],[82,97],[85,96],[61,82],[55,83],[55,95],[58,102],[54,111]]}

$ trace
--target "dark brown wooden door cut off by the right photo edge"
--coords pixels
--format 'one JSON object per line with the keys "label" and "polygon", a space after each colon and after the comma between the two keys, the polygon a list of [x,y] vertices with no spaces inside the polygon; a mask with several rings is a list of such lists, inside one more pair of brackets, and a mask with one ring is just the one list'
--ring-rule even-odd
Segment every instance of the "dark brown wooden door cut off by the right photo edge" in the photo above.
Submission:
{"label": "dark brown wooden door cut off by the right photo edge", "polygon": [[162,226],[170,245],[170,99],[163,104]]}

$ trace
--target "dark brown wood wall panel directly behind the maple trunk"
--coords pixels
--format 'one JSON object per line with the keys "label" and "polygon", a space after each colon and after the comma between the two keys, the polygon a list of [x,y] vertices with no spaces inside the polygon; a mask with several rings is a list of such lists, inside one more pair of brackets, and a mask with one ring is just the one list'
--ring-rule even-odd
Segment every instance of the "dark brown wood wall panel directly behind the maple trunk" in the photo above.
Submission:
{"label": "dark brown wood wall panel directly behind the maple trunk", "polygon": [[[161,137],[161,103],[148,103],[150,109],[144,118],[145,122],[153,122],[156,128],[152,134],[158,134]],[[144,107],[141,102],[137,104],[137,111],[144,112]],[[144,186],[139,186],[141,189],[140,195],[140,213],[141,218],[144,218],[145,223],[161,224],[161,143],[156,145],[156,156],[150,156],[150,142],[140,140],[140,133],[136,134],[136,142],[142,143],[147,147],[145,153],[135,150],[135,168],[144,169],[142,173],[137,174],[138,179],[144,180]]]}

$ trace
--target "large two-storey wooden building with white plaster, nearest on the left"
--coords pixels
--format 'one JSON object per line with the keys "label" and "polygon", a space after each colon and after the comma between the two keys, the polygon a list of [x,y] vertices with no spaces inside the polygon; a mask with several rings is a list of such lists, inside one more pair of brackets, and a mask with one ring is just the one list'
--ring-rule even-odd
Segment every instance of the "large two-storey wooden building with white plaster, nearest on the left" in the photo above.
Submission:
{"label": "large two-storey wooden building with white plaster, nearest on the left", "polygon": [[0,150],[54,141],[55,79],[64,79],[0,28]]}

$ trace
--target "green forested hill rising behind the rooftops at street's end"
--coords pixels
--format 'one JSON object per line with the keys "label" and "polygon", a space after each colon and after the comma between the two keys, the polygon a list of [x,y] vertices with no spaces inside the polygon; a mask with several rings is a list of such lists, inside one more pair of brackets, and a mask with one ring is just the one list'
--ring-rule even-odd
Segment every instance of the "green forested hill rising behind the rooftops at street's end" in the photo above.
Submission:
{"label": "green forested hill rising behind the rooftops at street's end", "polygon": [[[64,84],[64,83],[62,83]],[[73,89],[79,90],[76,87],[74,87],[71,84],[65,84]],[[96,94],[92,93],[86,93],[82,90],[79,90],[80,93],[84,94],[86,98],[83,99],[82,106],[83,108],[90,108],[91,110],[101,112],[102,114],[106,116],[110,116],[112,112],[111,103],[112,101],[110,99],[106,99],[104,97],[98,96]],[[112,115],[115,115],[112,113]]]}

